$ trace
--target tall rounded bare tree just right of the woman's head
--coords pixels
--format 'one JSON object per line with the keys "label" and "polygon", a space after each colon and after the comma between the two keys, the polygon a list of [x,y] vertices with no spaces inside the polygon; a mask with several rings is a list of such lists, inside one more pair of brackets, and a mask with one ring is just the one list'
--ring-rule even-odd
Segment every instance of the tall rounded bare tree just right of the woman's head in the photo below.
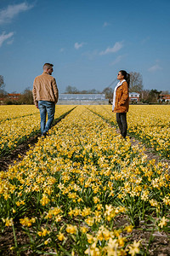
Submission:
{"label": "tall rounded bare tree just right of the woman's head", "polygon": [[137,72],[130,73],[130,92],[141,92],[143,90],[143,79],[142,75]]}

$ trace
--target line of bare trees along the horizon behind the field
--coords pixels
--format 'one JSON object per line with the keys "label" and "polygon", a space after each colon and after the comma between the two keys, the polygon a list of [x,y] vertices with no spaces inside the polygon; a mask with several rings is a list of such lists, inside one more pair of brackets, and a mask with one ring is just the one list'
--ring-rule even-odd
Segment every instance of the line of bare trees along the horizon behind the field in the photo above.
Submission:
{"label": "line of bare trees along the horizon behind the field", "polygon": [[[68,85],[65,89],[65,94],[95,94],[95,93],[103,93],[105,94],[105,98],[109,99],[110,102],[113,97],[113,91],[116,84],[112,86],[106,86],[103,90],[78,90],[77,87]],[[12,101],[8,99],[8,93],[4,90],[5,84],[3,76],[0,75],[0,99],[4,99],[5,104],[33,104],[33,96],[32,92],[29,88],[26,88],[21,94],[17,101]],[[168,95],[168,90],[144,90],[144,84],[142,75],[137,72],[130,73],[130,86],[129,92],[138,92],[140,94],[140,101],[144,103],[150,102],[158,102],[159,96]]]}

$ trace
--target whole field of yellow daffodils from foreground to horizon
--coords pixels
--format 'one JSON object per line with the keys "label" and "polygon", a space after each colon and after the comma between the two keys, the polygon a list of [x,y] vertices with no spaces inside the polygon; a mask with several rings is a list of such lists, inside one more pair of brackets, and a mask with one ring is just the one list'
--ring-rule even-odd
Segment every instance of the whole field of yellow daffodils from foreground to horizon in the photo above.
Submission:
{"label": "whole field of yellow daffodils from foreground to horizon", "polygon": [[[150,147],[160,145],[157,152],[168,157],[169,106],[157,111],[156,106],[135,107],[127,116],[128,132]],[[38,110],[28,113],[30,122],[26,113],[1,117],[2,124],[8,122],[3,137],[15,119],[25,124],[25,131],[38,127]],[[154,232],[170,231],[168,162],[149,160],[144,146],[122,139],[111,106],[57,106],[55,118],[64,113],[48,137],[39,137],[22,160],[0,172],[1,232],[13,234],[0,253],[150,255]],[[164,134],[154,130],[156,125]],[[167,142],[166,151],[158,134]],[[150,234],[149,240],[134,236],[139,227]]]}

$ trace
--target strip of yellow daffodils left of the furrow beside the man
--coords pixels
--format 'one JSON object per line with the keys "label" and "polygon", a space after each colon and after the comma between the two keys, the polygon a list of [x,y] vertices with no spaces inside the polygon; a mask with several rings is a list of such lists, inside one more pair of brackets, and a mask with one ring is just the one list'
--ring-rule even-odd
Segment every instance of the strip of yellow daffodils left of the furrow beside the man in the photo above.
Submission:
{"label": "strip of yellow daffodils left of the furrow beside the man", "polygon": [[[54,118],[59,119],[73,107],[57,106]],[[0,156],[8,154],[10,150],[14,150],[20,143],[40,131],[40,114],[35,106],[1,106],[0,114]]]}

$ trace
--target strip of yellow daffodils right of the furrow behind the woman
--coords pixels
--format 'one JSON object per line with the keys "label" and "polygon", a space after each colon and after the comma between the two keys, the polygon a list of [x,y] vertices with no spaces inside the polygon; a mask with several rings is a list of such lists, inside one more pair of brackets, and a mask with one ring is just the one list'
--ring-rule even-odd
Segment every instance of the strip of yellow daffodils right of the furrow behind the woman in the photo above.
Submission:
{"label": "strip of yellow daffodils right of the furrow behind the woman", "polygon": [[[116,125],[111,106],[90,106],[94,113]],[[170,158],[170,106],[133,106],[127,113],[128,134],[139,138],[162,157]]]}

